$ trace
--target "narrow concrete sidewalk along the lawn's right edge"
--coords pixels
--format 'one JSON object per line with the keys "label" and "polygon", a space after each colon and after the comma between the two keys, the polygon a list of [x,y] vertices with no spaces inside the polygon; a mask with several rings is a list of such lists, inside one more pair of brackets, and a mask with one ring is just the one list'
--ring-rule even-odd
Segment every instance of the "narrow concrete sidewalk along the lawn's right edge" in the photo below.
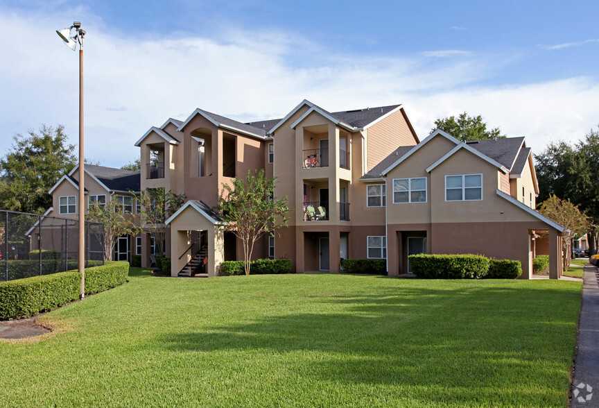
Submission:
{"label": "narrow concrete sidewalk along the lawn's right edge", "polygon": [[599,285],[596,266],[584,266],[572,407],[599,407]]}

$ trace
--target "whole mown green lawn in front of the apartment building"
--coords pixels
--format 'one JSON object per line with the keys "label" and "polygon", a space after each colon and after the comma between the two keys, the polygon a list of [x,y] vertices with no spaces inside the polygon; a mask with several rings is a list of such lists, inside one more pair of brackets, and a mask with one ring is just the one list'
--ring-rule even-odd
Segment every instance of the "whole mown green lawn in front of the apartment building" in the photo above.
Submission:
{"label": "whole mown green lawn in front of the apartment building", "polygon": [[0,405],[565,407],[581,287],[132,269],[0,343]]}

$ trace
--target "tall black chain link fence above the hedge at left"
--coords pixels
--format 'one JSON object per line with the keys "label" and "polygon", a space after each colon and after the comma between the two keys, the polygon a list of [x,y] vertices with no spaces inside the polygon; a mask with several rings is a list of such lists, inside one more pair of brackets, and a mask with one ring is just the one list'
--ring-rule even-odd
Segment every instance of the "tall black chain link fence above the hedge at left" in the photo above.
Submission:
{"label": "tall black chain link fence above the hedge at left", "polygon": [[[0,282],[77,269],[76,219],[0,210]],[[104,225],[85,222],[85,267],[104,264]]]}

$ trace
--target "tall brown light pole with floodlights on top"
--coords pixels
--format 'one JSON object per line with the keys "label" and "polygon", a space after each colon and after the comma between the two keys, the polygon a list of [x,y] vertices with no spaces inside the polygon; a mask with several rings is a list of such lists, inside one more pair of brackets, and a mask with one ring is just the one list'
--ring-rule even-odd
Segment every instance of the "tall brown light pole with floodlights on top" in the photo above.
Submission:
{"label": "tall brown light pole with floodlights on top", "polygon": [[[75,35],[71,31],[75,29]],[[79,253],[78,270],[81,274],[80,295],[85,297],[85,173],[83,172],[83,37],[85,30],[81,28],[80,22],[73,22],[70,28],[62,28],[56,33],[62,38],[64,44],[75,51],[79,44]]]}

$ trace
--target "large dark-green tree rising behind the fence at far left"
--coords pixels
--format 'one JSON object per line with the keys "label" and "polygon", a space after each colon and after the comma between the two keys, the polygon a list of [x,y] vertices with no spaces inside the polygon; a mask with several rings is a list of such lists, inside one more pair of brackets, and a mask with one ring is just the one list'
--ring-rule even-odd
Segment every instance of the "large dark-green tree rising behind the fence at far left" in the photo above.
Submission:
{"label": "large dark-green tree rising behind the fence at far left", "polygon": [[67,143],[62,125],[42,125],[38,133],[29,130],[13,140],[0,160],[0,207],[43,213],[52,205],[49,190],[76,164],[75,146]]}

